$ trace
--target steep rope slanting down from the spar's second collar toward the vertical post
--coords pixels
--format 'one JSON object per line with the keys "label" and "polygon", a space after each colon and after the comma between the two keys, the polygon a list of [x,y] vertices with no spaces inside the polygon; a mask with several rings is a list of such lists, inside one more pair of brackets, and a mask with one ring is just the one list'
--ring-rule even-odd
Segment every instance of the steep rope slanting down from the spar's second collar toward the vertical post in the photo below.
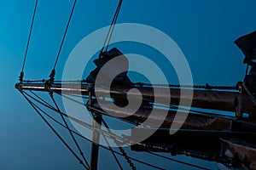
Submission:
{"label": "steep rope slanting down from the spar's second collar toward the vertical post", "polygon": [[[59,108],[59,106],[57,105],[55,99],[54,99],[54,96],[53,96],[53,93],[52,93],[52,92],[49,92],[49,96],[50,96],[50,98],[52,99],[52,101],[54,102],[57,111],[61,111],[60,108]],[[74,144],[76,144],[76,146],[77,146],[77,148],[78,148],[78,150],[79,150],[80,156],[83,157],[84,162],[86,163],[86,165],[87,165],[88,167],[90,167],[88,161],[87,161],[86,158],[84,157],[84,152],[81,150],[78,141],[77,141],[77,140],[75,139],[75,137],[73,136],[73,133],[72,133],[70,127],[68,126],[67,121],[65,120],[65,117],[64,117],[62,114],[61,114],[61,119],[62,119],[62,121],[64,122],[64,124],[66,125],[67,130],[68,130],[70,136],[72,137]]]}

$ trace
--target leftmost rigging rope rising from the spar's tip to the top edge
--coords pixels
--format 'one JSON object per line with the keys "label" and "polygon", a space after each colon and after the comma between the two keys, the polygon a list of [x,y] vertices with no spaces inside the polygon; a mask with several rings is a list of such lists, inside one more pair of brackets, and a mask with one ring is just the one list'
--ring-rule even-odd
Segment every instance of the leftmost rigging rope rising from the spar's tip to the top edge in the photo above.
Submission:
{"label": "leftmost rigging rope rising from the spar's tip to the top edge", "polygon": [[29,31],[29,36],[27,38],[26,52],[25,52],[25,55],[24,55],[23,64],[22,64],[22,68],[21,68],[21,71],[20,71],[20,77],[19,77],[20,82],[23,82],[24,67],[25,67],[25,64],[26,64],[26,55],[27,55],[27,51],[28,51],[28,47],[29,47],[29,42],[30,42],[30,39],[31,39],[32,28],[33,28],[33,25],[34,25],[34,20],[35,20],[37,7],[38,7],[38,0],[36,0],[36,4],[35,4],[35,7],[34,7],[34,12],[33,12],[33,16],[32,16],[32,23],[31,23],[30,31]]}

